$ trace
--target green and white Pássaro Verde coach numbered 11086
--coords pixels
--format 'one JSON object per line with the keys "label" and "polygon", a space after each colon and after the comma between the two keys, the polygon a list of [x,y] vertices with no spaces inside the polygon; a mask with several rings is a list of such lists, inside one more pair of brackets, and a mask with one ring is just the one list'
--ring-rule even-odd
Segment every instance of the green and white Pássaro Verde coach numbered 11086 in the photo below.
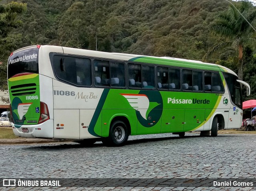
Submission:
{"label": "green and white P\u00e1ssaro Verde coach numbered 11086", "polygon": [[240,128],[242,85],[250,95],[226,67],[173,57],[33,45],[8,59],[14,134],[84,145]]}

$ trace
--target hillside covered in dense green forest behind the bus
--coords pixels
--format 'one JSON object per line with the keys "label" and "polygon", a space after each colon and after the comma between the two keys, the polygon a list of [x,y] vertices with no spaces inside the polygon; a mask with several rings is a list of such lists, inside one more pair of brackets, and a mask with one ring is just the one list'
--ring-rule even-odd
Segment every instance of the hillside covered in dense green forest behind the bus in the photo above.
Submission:
{"label": "hillside covered in dense green forest behind the bus", "polygon": [[[10,0],[1,3],[6,2]],[[209,47],[222,39],[210,32],[210,24],[219,12],[230,7],[225,0],[19,2],[26,3],[27,10],[18,16],[23,26],[11,32],[16,35],[15,49],[50,44],[195,60],[202,60]],[[237,72],[233,57],[234,51],[226,49],[210,57],[208,62],[217,62]],[[250,47],[245,57],[244,80],[250,83],[255,78],[254,84],[250,84],[255,90],[255,58]]]}

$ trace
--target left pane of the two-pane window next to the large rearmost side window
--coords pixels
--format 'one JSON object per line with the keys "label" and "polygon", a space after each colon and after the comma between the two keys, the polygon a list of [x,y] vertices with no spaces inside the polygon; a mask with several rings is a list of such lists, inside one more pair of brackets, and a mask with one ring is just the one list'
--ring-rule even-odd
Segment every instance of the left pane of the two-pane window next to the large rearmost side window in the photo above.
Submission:
{"label": "left pane of the two-pane window next to the large rearmost side window", "polygon": [[[110,86],[109,62],[102,60],[94,60],[94,79],[95,85]],[[100,83],[96,81],[100,79]]]}

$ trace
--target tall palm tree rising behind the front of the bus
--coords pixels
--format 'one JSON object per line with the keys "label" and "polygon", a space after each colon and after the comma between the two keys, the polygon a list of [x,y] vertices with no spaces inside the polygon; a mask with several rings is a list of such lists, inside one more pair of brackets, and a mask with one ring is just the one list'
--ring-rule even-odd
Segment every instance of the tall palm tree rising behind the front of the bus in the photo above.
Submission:
{"label": "tall palm tree rising behind the front of the bus", "polygon": [[[236,8],[250,24],[254,23],[256,10],[248,0],[236,4]],[[232,47],[238,55],[238,79],[242,80],[244,47],[254,47],[256,38],[253,28],[236,8],[230,5],[228,11],[221,12],[211,25],[210,28],[214,34],[221,35],[225,41],[210,47],[203,59],[207,60],[213,53],[218,53],[226,47]]]}

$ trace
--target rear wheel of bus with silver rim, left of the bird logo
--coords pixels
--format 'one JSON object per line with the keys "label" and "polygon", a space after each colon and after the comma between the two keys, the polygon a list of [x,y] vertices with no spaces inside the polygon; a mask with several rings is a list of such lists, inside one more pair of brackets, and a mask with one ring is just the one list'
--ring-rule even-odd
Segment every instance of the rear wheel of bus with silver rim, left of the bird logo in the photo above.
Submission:
{"label": "rear wheel of bus with silver rim, left of the bird logo", "polygon": [[109,146],[122,146],[128,140],[128,128],[126,124],[120,120],[113,122],[109,130],[109,136],[103,143]]}

